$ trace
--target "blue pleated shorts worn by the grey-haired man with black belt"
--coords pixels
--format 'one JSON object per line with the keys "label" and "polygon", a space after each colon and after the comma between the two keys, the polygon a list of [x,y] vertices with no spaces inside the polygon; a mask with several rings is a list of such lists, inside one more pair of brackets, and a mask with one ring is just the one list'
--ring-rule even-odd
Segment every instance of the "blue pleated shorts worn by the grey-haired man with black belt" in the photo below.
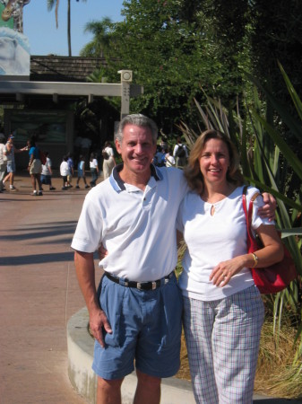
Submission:
{"label": "blue pleated shorts worn by the grey-haired man with black belt", "polygon": [[104,332],[106,347],[96,341],[92,369],[107,380],[134,371],[170,377],[180,365],[182,295],[175,275],[168,284],[142,291],[103,277],[99,298],[112,334]]}

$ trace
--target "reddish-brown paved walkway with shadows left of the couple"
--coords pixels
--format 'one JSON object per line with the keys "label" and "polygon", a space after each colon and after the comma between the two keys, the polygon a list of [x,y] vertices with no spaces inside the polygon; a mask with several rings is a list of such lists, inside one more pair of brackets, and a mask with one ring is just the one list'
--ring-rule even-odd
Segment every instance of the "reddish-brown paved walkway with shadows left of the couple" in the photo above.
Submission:
{"label": "reddish-brown paved walkway with shadows left of the couple", "polygon": [[85,305],[70,243],[87,191],[53,182],[31,197],[24,172],[0,194],[0,404],[86,402],[68,379],[66,323]]}

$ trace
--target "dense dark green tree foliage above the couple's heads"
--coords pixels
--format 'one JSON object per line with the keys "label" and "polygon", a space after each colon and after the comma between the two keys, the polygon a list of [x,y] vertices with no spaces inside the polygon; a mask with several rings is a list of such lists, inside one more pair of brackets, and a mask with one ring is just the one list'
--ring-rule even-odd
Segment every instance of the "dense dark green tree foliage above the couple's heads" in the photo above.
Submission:
{"label": "dense dark green tree foliage above the couple's heads", "polygon": [[124,21],[87,24],[93,40],[82,55],[105,57],[109,82],[119,80],[118,70],[133,70],[144,94],[132,99],[131,111],[156,119],[168,136],[180,120],[197,129],[194,98],[205,100],[201,87],[227,106],[238,96],[241,109],[243,94],[251,94],[244,70],[272,83],[273,95],[288,102],[276,56],[293,72],[302,94],[302,12],[296,0],[271,5],[265,0],[125,0]]}

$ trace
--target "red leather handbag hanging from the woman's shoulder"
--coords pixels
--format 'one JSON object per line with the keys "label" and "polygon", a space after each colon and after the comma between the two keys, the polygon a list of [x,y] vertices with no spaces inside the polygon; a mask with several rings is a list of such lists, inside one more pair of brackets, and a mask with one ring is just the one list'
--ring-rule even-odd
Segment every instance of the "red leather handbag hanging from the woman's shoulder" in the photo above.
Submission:
{"label": "red leather handbag hanging from the woman's shoulder", "polygon": [[[255,237],[251,230],[253,205],[255,198],[257,198],[259,193],[253,195],[247,211],[246,189],[247,187],[245,187],[243,190],[242,205],[246,215],[247,251],[255,252],[256,250],[263,248],[260,238]],[[282,245],[284,249],[284,257],[280,262],[277,262],[276,264],[273,264],[267,268],[251,268],[255,285],[262,294],[276,294],[285,289],[291,281],[297,278],[297,270],[294,260],[291,258],[289,250],[284,244]]]}

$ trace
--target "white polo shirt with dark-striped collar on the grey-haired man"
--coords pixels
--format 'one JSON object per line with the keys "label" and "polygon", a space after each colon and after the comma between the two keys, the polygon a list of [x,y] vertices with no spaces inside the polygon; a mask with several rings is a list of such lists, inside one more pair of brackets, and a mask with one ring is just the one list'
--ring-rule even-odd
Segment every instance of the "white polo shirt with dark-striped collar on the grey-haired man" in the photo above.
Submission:
{"label": "white polo shirt with dark-striped collar on the grey-haired man", "polygon": [[87,194],[72,248],[94,252],[102,243],[108,256],[99,266],[106,271],[137,282],[160,279],[177,265],[176,218],[187,191],[183,171],[151,165],[142,191],[120,179],[121,168]]}

